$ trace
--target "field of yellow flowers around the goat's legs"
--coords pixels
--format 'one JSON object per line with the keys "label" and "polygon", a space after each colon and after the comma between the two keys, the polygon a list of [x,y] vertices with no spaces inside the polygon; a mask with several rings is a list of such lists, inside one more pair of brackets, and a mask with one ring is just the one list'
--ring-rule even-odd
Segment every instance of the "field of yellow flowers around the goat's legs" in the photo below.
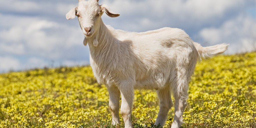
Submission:
{"label": "field of yellow flowers around the goat's legs", "polygon": [[[113,127],[109,94],[90,67],[0,74],[0,127]],[[134,127],[154,127],[155,91],[136,90]],[[174,108],[165,127],[173,121]],[[182,127],[256,127],[256,53],[198,63],[189,84]],[[121,123],[117,127],[123,127]]]}

